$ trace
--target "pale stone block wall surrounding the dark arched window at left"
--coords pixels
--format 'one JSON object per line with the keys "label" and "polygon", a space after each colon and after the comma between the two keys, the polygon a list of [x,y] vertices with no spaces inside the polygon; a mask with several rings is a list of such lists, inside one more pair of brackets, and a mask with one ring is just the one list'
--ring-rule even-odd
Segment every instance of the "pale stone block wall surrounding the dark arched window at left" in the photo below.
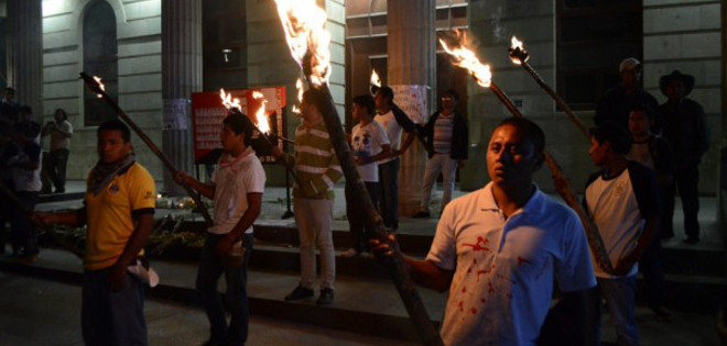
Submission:
{"label": "pale stone block wall surrounding the dark arched window at left", "polygon": [[[75,130],[70,138],[68,179],[85,179],[98,159],[97,127],[84,124],[85,87],[78,80],[83,68],[84,13],[93,2],[43,1],[43,115],[51,120],[56,108],[68,112]],[[119,105],[154,143],[161,144],[161,0],[107,2],[113,8],[117,20]],[[161,177],[160,160],[135,135],[132,142],[137,159],[154,177]]]}

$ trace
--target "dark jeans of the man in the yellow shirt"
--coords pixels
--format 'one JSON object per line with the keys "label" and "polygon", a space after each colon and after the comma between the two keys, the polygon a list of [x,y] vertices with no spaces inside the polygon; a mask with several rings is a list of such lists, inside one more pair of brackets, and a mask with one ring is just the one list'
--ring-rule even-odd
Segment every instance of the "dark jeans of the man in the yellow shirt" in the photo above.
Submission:
{"label": "dark jeans of the man in the yellow shirt", "polygon": [[147,345],[144,283],[127,272],[121,291],[109,291],[108,268],[84,271],[80,325],[89,346]]}

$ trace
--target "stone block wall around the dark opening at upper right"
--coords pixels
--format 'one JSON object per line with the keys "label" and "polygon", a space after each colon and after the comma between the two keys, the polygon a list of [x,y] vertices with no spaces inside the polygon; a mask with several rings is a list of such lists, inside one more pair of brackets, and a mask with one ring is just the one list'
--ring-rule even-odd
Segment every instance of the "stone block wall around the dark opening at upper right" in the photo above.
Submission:
{"label": "stone block wall around the dark opening at upper right", "polygon": [[[470,33],[478,41],[477,54],[492,66],[493,81],[517,102],[521,111],[538,122],[546,135],[546,147],[561,164],[577,191],[583,191],[588,172],[596,169],[587,156],[589,143],[565,114],[520,67],[508,59],[510,37],[524,41],[531,65],[554,89],[555,85],[555,3],[554,1],[473,0]],[[703,160],[701,193],[714,194],[717,182],[718,145],[721,124],[721,36],[720,1],[643,1],[644,88],[660,102],[659,77],[674,69],[696,77],[691,97],[702,103],[712,130],[712,148]],[[617,67],[615,67],[617,68]],[[485,169],[485,147],[495,124],[509,115],[489,92],[470,81],[470,159],[460,172],[462,188],[476,189],[489,181]],[[576,112],[586,126],[593,112]],[[550,172],[544,167],[536,182],[552,191]]]}

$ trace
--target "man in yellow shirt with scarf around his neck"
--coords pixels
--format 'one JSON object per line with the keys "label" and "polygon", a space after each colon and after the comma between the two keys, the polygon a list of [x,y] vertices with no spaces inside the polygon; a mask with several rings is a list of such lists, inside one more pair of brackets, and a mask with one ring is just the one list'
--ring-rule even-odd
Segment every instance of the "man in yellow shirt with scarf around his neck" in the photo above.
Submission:
{"label": "man in yellow shirt with scarf around his neck", "polygon": [[85,208],[36,212],[40,224],[88,225],[84,252],[82,330],[86,345],[147,345],[144,283],[135,266],[151,233],[154,179],[131,156],[131,133],[118,120],[98,127],[96,167],[87,179]]}

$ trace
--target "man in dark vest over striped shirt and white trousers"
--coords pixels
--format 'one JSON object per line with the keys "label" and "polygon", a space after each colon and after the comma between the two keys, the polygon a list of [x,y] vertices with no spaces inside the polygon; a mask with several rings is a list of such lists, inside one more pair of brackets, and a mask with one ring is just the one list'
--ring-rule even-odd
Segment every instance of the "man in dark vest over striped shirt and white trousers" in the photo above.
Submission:
{"label": "man in dark vest over striped shirt and white trousers", "polygon": [[442,108],[434,113],[421,130],[426,142],[426,152],[430,160],[424,170],[424,185],[420,211],[412,215],[416,219],[430,216],[430,200],[432,188],[442,172],[442,211],[452,200],[457,167],[462,167],[467,159],[468,130],[467,120],[456,112],[457,92],[449,89],[442,96]]}

